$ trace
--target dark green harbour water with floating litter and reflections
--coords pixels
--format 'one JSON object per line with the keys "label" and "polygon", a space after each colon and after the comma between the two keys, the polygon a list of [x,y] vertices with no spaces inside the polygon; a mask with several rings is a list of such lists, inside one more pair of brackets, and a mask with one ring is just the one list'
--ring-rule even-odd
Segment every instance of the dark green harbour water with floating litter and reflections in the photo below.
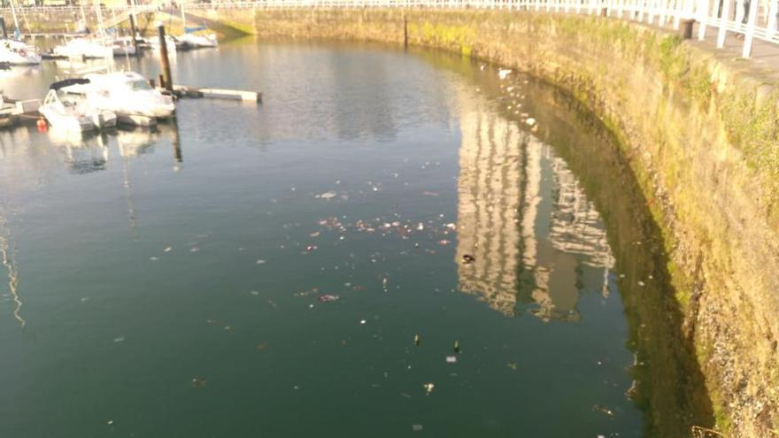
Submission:
{"label": "dark green harbour water with floating litter and reflections", "polygon": [[[0,89],[42,97],[66,68]],[[555,88],[357,44],[235,42],[179,54],[174,76],[264,103],[184,100],[155,131],[0,131],[0,436],[706,422],[636,182]]]}

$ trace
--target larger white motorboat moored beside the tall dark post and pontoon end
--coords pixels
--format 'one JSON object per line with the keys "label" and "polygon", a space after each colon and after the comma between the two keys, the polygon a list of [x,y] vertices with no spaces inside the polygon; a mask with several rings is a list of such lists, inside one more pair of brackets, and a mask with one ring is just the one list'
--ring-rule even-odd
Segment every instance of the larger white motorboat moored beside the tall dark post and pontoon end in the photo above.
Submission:
{"label": "larger white motorboat moored beside the tall dark post and pontoon end", "polygon": [[123,123],[153,125],[176,110],[171,96],[151,88],[146,78],[135,72],[89,73],[84,80],[66,87],[66,92],[85,96],[90,105],[116,113]]}

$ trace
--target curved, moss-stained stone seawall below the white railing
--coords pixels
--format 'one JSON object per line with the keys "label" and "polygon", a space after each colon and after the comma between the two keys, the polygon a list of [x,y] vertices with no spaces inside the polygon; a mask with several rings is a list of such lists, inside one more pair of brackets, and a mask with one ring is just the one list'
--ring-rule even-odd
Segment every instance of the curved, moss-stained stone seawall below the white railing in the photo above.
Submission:
{"label": "curved, moss-stained stone seawall below the white railing", "polygon": [[261,38],[451,50],[572,93],[620,137],[663,230],[675,287],[669,292],[683,312],[679,335],[695,346],[717,426],[731,436],[779,434],[779,74],[675,35],[590,16],[372,9],[219,15],[231,26],[253,25]]}

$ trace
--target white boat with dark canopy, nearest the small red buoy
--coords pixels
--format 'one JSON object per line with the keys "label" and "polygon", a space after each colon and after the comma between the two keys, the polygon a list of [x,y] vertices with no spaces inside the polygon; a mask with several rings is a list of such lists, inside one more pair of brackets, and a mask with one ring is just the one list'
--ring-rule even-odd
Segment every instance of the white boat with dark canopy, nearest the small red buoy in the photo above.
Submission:
{"label": "white boat with dark canopy, nearest the small red buoy", "polygon": [[91,131],[116,127],[116,114],[100,110],[89,104],[79,94],[68,93],[64,88],[88,84],[88,79],[67,79],[51,84],[49,94],[38,111],[49,120],[52,127],[68,131]]}

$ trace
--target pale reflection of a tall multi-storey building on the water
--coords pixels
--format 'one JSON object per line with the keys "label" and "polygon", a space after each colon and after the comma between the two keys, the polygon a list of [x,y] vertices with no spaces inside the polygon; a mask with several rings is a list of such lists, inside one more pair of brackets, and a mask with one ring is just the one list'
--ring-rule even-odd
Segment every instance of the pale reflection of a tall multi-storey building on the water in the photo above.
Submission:
{"label": "pale reflection of a tall multi-storey building on the water", "polygon": [[[566,163],[513,122],[467,108],[460,129],[459,288],[505,315],[523,302],[544,320],[579,320],[580,290],[607,293],[613,266],[598,211]],[[460,263],[466,254],[475,261]]]}

